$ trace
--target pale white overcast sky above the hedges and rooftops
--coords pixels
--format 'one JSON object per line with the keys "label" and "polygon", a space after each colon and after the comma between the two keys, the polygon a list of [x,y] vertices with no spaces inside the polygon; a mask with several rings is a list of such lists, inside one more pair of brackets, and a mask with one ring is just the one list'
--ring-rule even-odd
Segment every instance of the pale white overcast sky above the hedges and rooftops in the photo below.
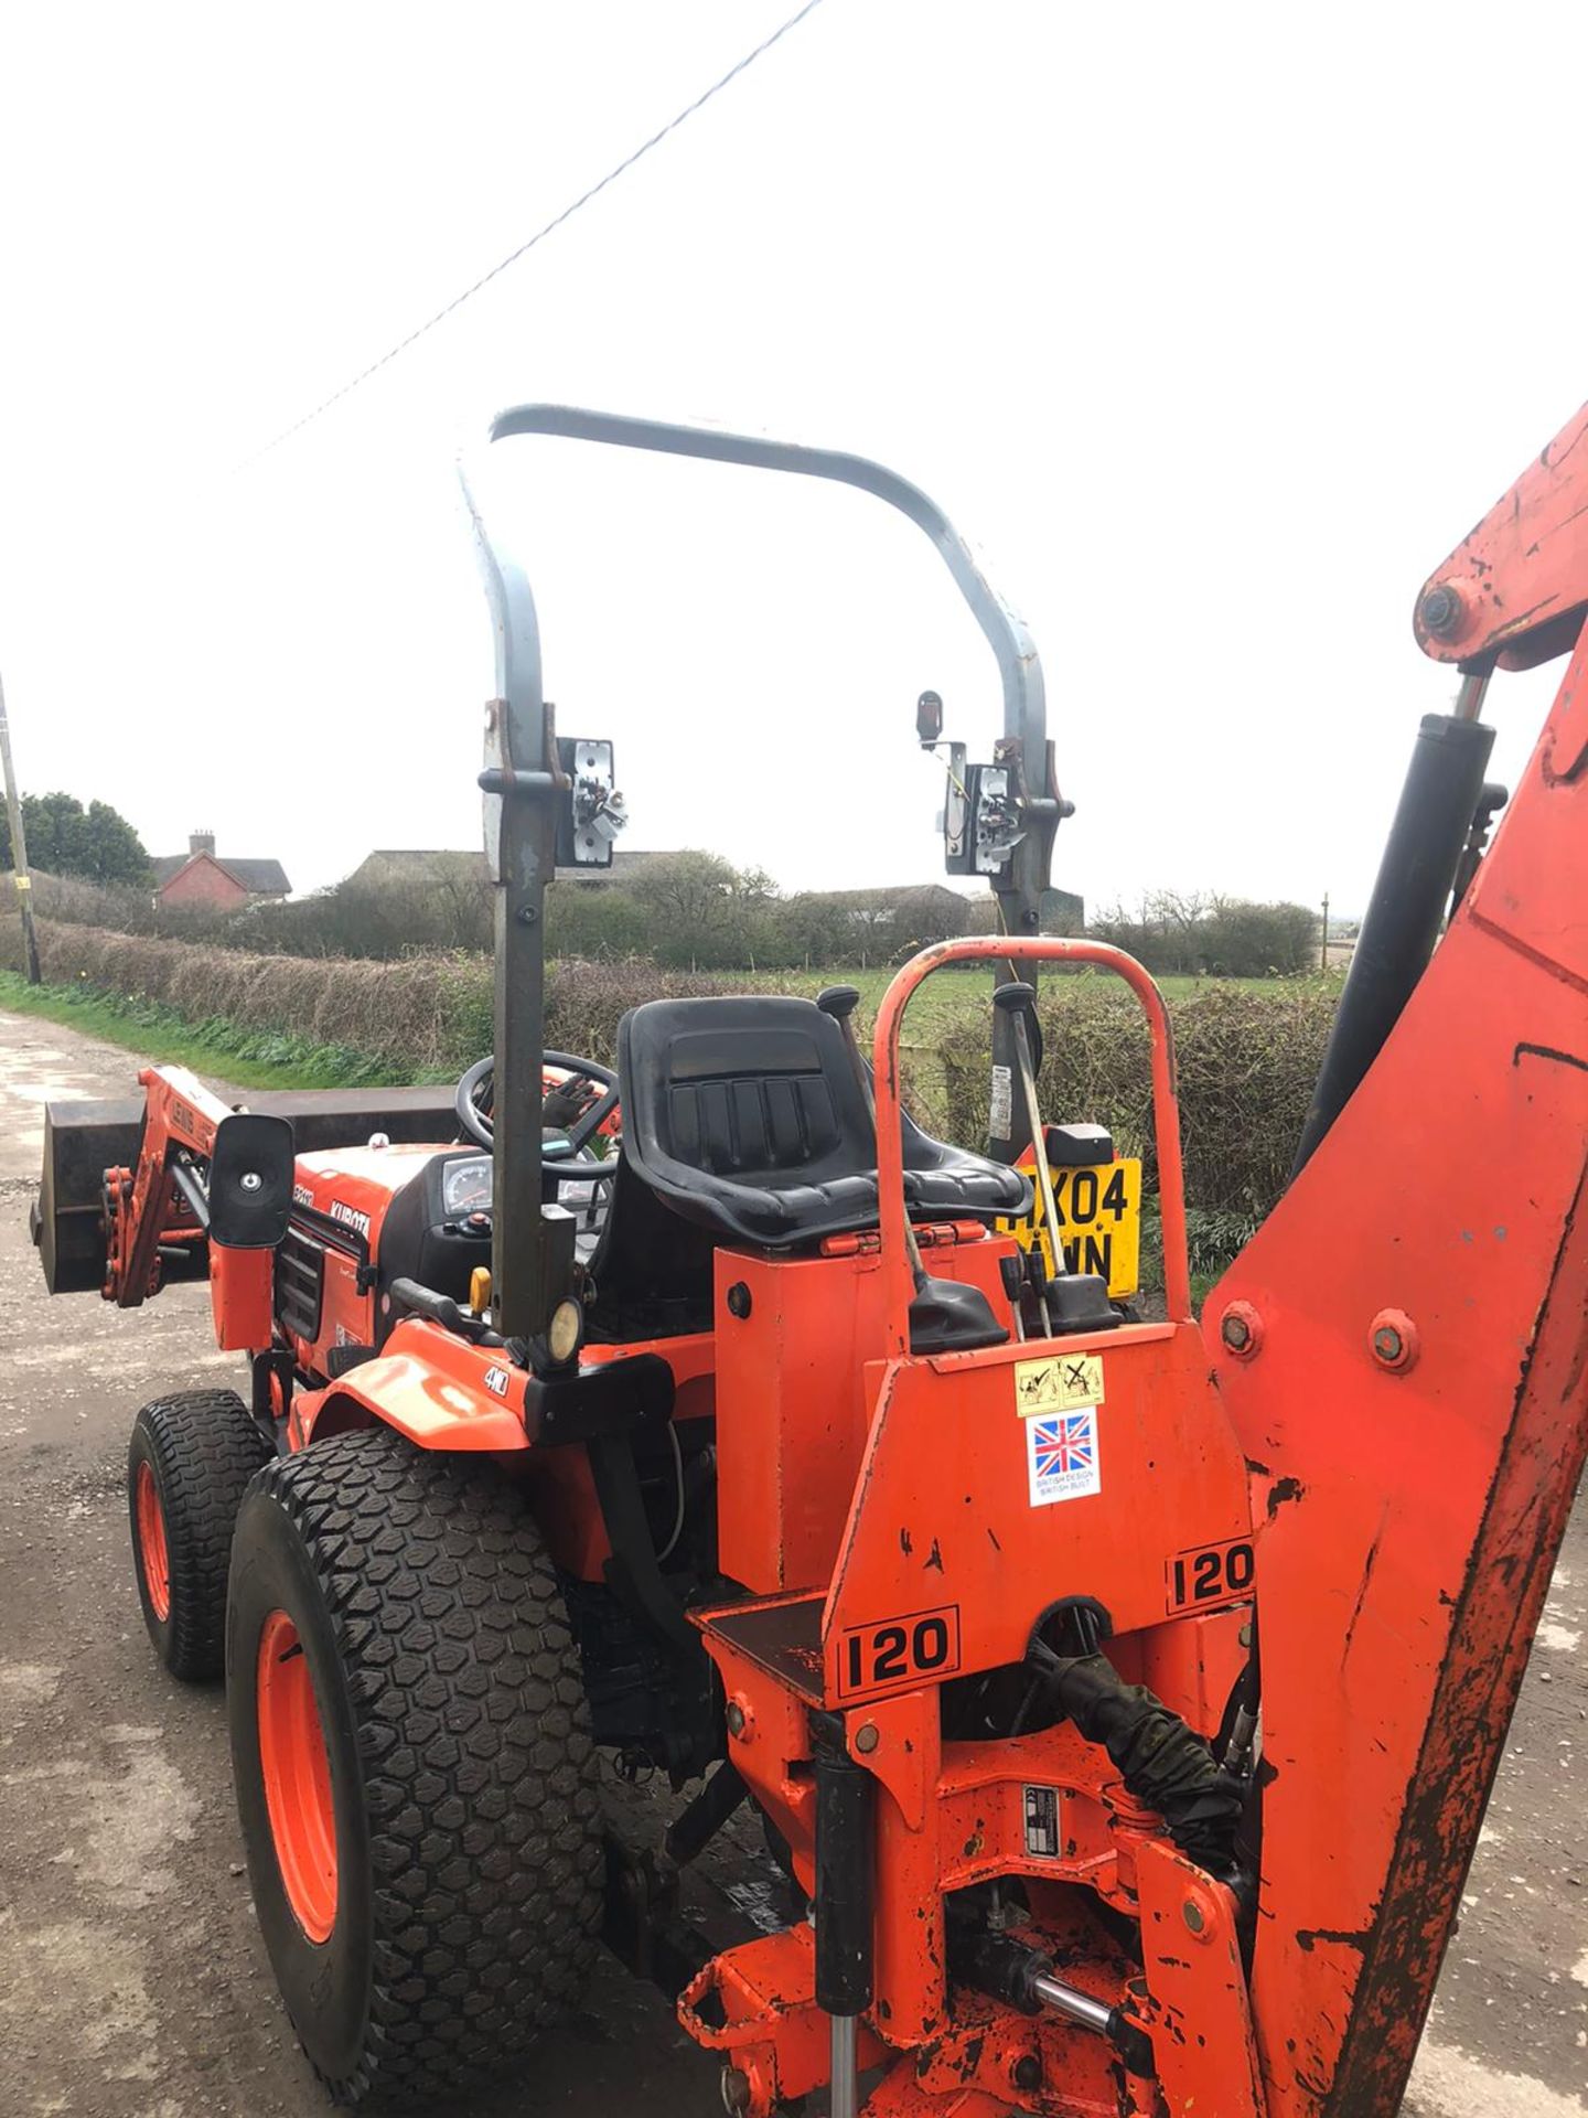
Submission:
{"label": "pale white overcast sky above the hedges and rooftops", "polygon": [[[565,398],[877,455],[1029,618],[1054,879],[1359,909],[1419,585],[1588,390],[1575,8],[794,0],[0,15],[0,669],[25,788],[294,887],[479,843],[453,453]],[[627,845],[938,873],[917,693],[995,669],[862,496],[515,441],[498,481]],[[246,468],[237,468],[246,466]],[[1516,771],[1548,684],[1501,680]]]}

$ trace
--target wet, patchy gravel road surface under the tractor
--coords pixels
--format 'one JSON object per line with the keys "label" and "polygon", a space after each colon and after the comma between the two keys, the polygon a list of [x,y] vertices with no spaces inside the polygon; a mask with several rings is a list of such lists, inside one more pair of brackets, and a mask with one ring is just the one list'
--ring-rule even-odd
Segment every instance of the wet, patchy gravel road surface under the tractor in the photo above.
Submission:
{"label": "wet, patchy gravel road surface under the tractor", "polygon": [[[254,1929],[218,1688],[155,1665],[127,1555],[131,1415],[235,1372],[201,1288],[44,1305],[42,1103],[138,1061],[0,1015],[0,2118],[324,2118]],[[1588,1504],[1467,1883],[1416,2118],[1588,2118]],[[529,2078],[449,2118],[720,2110],[716,2065],[614,1966]]]}

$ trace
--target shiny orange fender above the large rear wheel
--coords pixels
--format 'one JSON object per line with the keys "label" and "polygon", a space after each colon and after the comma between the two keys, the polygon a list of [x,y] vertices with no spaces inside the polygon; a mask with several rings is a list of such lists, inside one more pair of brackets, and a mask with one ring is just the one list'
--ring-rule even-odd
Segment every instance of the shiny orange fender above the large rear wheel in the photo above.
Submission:
{"label": "shiny orange fender above the large rear wheel", "polygon": [[523,1389],[523,1370],[491,1347],[404,1317],[375,1360],[296,1400],[294,1440],[307,1447],[315,1434],[377,1421],[415,1449],[521,1451],[529,1449]]}

